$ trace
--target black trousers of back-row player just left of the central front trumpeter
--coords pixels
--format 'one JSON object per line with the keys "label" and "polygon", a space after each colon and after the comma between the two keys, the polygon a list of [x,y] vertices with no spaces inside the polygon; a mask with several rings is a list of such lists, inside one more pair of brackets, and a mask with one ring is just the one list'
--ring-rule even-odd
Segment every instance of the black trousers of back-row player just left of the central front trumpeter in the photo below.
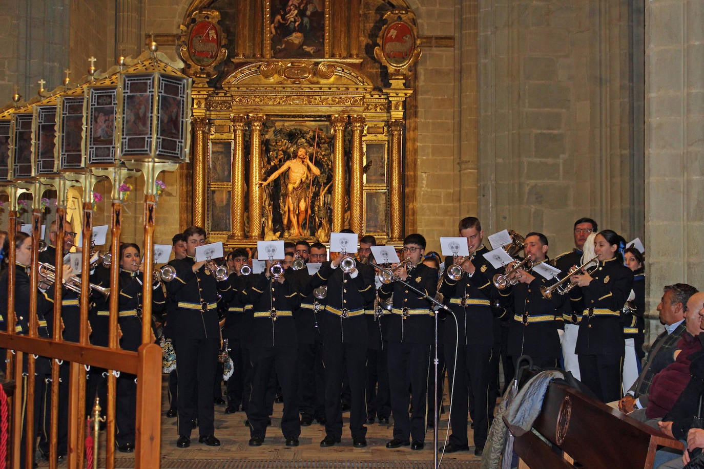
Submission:
{"label": "black trousers of back-row player just left of the central front trumpeter", "polygon": [[325,417],[325,368],[320,340],[298,344],[298,404],[302,414]]}

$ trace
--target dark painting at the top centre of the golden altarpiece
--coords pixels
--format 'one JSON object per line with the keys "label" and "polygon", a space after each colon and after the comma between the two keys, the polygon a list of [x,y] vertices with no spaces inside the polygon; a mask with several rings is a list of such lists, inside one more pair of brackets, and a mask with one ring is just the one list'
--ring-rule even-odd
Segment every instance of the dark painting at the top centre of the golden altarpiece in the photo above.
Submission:
{"label": "dark painting at the top centre of the golden altarpiece", "polygon": [[325,57],[325,0],[271,0],[273,58]]}

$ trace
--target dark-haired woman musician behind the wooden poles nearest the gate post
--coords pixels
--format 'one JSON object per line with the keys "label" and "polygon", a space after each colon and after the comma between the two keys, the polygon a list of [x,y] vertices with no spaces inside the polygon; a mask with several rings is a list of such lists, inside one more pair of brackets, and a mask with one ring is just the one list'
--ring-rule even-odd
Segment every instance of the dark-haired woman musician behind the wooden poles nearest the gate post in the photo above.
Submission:
{"label": "dark-haired woman musician behind the wooden poles nearest the gate post", "polygon": [[[137,352],[142,345],[142,262],[139,246],[125,243],[120,246],[120,317],[118,323],[122,331],[120,347]],[[155,283],[152,292],[152,311],[160,312],[164,306],[164,292],[161,283]],[[153,322],[152,322],[153,327]],[[117,383],[115,403],[115,443],[123,453],[134,451],[134,423],[137,412],[136,375],[120,373]]]}

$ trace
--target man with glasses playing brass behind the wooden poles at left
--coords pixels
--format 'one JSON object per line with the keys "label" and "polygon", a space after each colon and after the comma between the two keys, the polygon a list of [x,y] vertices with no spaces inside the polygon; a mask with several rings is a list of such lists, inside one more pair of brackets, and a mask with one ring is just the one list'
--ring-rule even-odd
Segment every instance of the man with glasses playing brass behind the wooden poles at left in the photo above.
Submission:
{"label": "man with glasses playing brass behind the wooden poles at left", "polygon": [[[51,264],[56,266],[56,220],[52,221],[49,225],[49,246],[47,246],[44,252],[39,254],[39,262],[44,262],[45,264]],[[75,240],[76,233],[73,231],[73,227],[68,221],[63,223],[63,246],[61,250],[61,256],[68,254],[70,249],[73,247],[73,242]],[[49,287],[52,291],[54,290],[54,285]],[[70,342],[78,342],[80,335],[80,317],[81,309],[78,304],[79,295],[68,288],[63,288],[61,293],[61,323],[63,323],[63,340]],[[54,321],[54,310],[51,309],[49,313],[46,314],[46,322],[49,326],[49,334],[54,335],[54,327],[58,326],[61,328],[60,324],[56,324]],[[35,412],[39,412],[40,421],[42,424],[39,426],[39,452],[42,454],[42,458],[46,461],[49,460],[49,430],[51,428],[51,361],[49,359],[37,359],[36,368],[37,377],[42,380],[41,386],[37,389],[37,398],[35,402],[39,402],[40,406],[35,407]],[[60,384],[58,386],[58,456],[59,459],[67,453],[68,444],[68,378],[69,378],[69,367],[68,362],[65,362],[59,366],[59,377]],[[41,392],[41,394],[40,394]]]}

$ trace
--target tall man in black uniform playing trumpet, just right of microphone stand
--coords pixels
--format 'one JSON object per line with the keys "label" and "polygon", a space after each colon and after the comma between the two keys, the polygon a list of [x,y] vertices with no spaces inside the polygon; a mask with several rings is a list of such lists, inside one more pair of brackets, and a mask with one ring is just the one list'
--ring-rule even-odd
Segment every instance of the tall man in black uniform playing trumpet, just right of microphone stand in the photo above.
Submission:
{"label": "tall man in black uniform playing trumpet, just right of microphone stand", "polygon": [[[491,300],[498,292],[491,283],[496,270],[484,258],[489,252],[482,244],[484,231],[479,219],[460,220],[460,236],[467,238],[470,256],[466,259],[445,259],[446,270],[440,291],[449,302],[453,314],[445,323],[445,361],[452,396],[450,421],[452,435],[443,451],[467,451],[467,400],[472,401],[474,414],[474,454],[484,451],[489,424],[494,415],[494,396],[489,395],[489,360],[494,344],[494,316]],[[458,262],[463,274],[459,280],[448,276],[447,267]]]}

